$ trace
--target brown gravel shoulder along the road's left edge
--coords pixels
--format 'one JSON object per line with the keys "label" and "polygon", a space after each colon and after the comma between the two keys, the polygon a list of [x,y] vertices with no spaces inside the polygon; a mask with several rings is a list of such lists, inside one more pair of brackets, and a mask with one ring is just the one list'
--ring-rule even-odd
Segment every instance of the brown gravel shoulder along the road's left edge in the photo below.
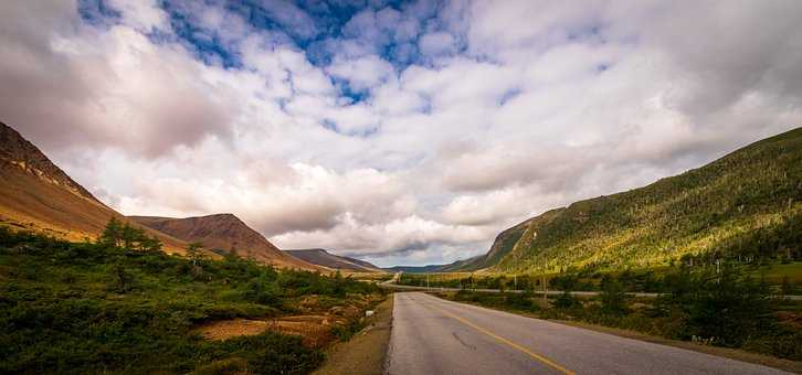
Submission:
{"label": "brown gravel shoulder along the road's left edge", "polygon": [[392,328],[393,294],[379,303],[368,326],[326,354],[326,363],[313,374],[382,374]]}

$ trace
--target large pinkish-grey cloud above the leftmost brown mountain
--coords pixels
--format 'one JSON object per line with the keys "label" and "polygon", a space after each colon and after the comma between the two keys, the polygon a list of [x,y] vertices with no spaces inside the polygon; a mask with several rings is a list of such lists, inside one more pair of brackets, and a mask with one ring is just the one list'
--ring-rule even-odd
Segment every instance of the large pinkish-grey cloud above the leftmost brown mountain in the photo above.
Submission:
{"label": "large pinkish-grey cloud above the leftmost brown mountain", "polygon": [[[54,18],[53,26],[63,24],[62,34],[44,39],[35,30],[40,24],[23,24],[13,31],[28,39],[3,43],[0,82],[10,89],[0,110],[7,121],[45,147],[114,146],[146,158],[230,135],[233,101],[213,95],[226,87],[204,82],[210,68],[180,46],[154,44],[127,25],[77,25],[75,9],[60,11],[65,20]],[[157,22],[141,12],[125,8],[124,20]]]}

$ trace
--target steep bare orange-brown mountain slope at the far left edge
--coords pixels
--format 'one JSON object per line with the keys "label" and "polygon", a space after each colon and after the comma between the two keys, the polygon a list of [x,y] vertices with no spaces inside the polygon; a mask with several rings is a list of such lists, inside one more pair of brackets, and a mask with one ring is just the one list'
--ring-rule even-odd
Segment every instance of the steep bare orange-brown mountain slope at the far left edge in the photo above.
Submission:
{"label": "steep bare orange-brown mountain slope at the far left edge", "polygon": [[[0,122],[0,225],[84,240],[96,237],[113,216],[125,221],[17,130]],[[168,251],[186,247],[177,238],[148,232]]]}

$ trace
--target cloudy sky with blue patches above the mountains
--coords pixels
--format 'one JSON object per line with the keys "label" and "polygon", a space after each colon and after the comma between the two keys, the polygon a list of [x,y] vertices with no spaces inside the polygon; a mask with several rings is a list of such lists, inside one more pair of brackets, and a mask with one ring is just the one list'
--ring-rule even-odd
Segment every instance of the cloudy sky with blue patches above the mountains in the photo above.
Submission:
{"label": "cloudy sky with blue patches above the mountains", "polygon": [[0,1],[0,121],[127,215],[379,266],[802,124],[802,1]]}

